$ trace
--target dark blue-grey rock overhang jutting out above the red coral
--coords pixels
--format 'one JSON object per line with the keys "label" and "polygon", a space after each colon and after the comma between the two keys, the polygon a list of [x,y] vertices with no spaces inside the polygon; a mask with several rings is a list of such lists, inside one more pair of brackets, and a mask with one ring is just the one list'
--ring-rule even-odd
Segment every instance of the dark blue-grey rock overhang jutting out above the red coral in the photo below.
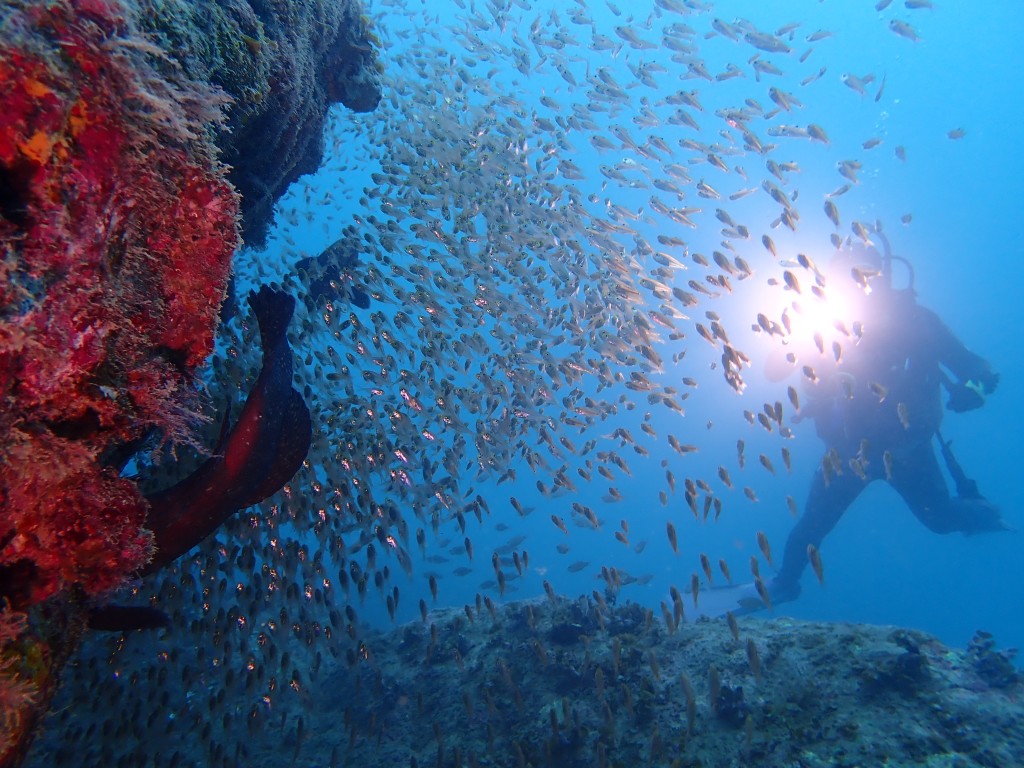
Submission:
{"label": "dark blue-grey rock overhang jutting out above the red coral", "polygon": [[274,202],[319,166],[328,109],[381,97],[375,39],[354,0],[144,0],[143,29],[232,101],[216,143],[242,195],[242,237],[266,239]]}

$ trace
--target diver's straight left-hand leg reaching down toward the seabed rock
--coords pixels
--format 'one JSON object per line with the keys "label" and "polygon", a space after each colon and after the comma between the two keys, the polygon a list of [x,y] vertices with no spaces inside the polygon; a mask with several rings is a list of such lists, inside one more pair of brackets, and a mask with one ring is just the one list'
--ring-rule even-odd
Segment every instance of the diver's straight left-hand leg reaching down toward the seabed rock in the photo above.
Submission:
{"label": "diver's straight left-hand leg reaching down toward the seabed rock", "polygon": [[771,583],[769,591],[773,598],[792,600],[800,594],[800,575],[808,563],[807,546],[819,547],[866,486],[867,482],[850,471],[833,475],[827,483],[820,468],[814,473],[804,514],[790,531],[782,566]]}

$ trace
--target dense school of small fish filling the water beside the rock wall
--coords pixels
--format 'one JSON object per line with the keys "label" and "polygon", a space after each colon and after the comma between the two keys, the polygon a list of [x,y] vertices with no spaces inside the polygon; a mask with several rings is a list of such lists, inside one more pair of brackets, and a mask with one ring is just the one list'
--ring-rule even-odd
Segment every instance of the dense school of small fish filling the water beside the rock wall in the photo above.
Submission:
{"label": "dense school of small fish filling the water beside the rock wall", "polygon": [[[93,643],[69,695],[111,685],[111,709],[131,715],[91,731],[66,718],[68,750],[133,764],[92,736],[134,728],[140,754],[170,762],[194,733],[207,764],[237,765],[237,731],[280,721],[298,752],[322,666],[372,657],[362,621],[429,623],[435,606],[462,603],[473,620],[587,578],[598,601],[669,579],[662,614],[678,624],[713,580],[731,581],[737,557],[769,602],[759,568],[777,563],[762,524],[723,557],[703,551],[701,526],[751,505],[777,509],[784,525],[799,511],[760,489],[798,456],[798,379],[839,365],[857,329],[818,333],[806,354],[788,344],[827,291],[795,244],[823,261],[881,227],[844,201],[883,139],[837,146],[813,108],[830,88],[872,109],[886,74],[823,63],[840,30],[761,29],[698,0],[642,13],[601,0],[453,2],[450,13],[371,4],[385,98],[376,113],[335,116],[328,136],[341,182],[367,185],[300,185],[280,214],[293,229],[354,239],[359,263],[345,280],[371,297],[357,310],[343,286],[316,298],[312,275],[276,275],[302,299],[290,341],[313,422],[303,468],[135,588],[178,637],[121,639],[110,657]],[[922,37],[904,17],[882,24]],[[835,168],[820,194],[803,181],[812,166]],[[805,229],[824,242],[806,245]],[[288,263],[303,255],[271,244]],[[759,291],[779,309],[752,304]],[[214,399],[247,391],[255,332],[244,317],[222,329]],[[769,347],[798,373],[752,401]],[[738,426],[716,426],[733,412]],[[728,450],[706,447],[731,429],[742,433]],[[647,546],[677,572],[644,572]],[[823,582],[820,554],[808,558]],[[96,669],[117,682],[96,683]]]}

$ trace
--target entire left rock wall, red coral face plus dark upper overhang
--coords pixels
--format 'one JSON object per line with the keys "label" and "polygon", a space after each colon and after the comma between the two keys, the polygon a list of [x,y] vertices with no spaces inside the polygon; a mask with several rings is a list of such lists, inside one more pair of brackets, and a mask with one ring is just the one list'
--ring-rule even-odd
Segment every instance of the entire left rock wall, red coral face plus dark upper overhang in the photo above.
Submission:
{"label": "entire left rock wall, red coral face plus dark upper overhang", "polygon": [[258,240],[318,163],[328,104],[379,98],[358,10],[57,0],[0,14],[0,765],[24,751],[93,599],[153,555],[148,505],[121,469],[154,436],[197,439],[240,214]]}

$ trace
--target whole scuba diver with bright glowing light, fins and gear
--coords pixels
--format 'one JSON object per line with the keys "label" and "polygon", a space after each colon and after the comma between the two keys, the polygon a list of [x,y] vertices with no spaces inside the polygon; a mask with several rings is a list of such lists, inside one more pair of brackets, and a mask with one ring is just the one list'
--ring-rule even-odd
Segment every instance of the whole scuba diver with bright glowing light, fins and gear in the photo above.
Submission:
{"label": "whole scuba diver with bright glowing light, fins and gear", "polygon": [[[873,236],[883,243],[885,256],[848,243],[825,275],[814,268],[817,296],[827,295],[829,305],[848,300],[845,308],[858,321],[849,327],[838,323],[833,343],[822,335],[828,328],[813,329],[813,346],[809,339],[801,346],[801,329],[796,326],[801,318],[791,318],[795,333],[786,336],[786,343],[794,351],[786,356],[784,372],[773,376],[769,371],[769,378],[780,379],[797,365],[810,364],[803,369],[806,389],[799,406],[791,388],[799,412],[794,421],[813,421],[826,446],[803,514],[786,540],[778,572],[770,581],[758,578],[754,584],[708,590],[699,613],[745,613],[795,600],[807,565],[820,567],[820,561],[814,561],[822,540],[877,480],[888,482],[913,515],[937,534],[1011,529],[998,508],[964,473],[939,432],[943,389],[947,409],[972,411],[995,391],[998,374],[935,312],[916,302],[912,266],[892,255],[881,231]],[[893,287],[893,261],[906,267],[906,288]],[[794,308],[804,298],[809,297],[802,296]],[[946,485],[933,440],[939,442],[955,495]]]}

